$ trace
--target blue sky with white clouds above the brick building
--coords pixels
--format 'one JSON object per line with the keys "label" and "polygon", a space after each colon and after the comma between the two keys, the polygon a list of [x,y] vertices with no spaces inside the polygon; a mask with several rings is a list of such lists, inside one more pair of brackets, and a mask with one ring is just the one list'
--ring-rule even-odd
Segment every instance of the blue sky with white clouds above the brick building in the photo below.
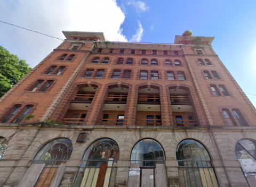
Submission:
{"label": "blue sky with white clouds above the brick building", "polygon": [[[0,20],[64,38],[62,30],[104,32],[110,41],[173,43],[189,29],[214,36],[213,49],[241,88],[256,95],[256,1],[9,0]],[[0,45],[31,67],[61,43],[0,23]],[[256,96],[247,94],[256,106]]]}

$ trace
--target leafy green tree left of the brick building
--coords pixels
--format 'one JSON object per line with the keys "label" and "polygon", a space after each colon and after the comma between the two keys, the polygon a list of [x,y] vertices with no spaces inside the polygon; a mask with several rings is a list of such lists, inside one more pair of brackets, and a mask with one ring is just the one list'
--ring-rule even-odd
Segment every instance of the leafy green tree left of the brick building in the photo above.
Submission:
{"label": "leafy green tree left of the brick building", "polygon": [[0,46],[0,97],[19,82],[31,67],[25,60],[20,60],[17,55],[13,55],[9,50]]}

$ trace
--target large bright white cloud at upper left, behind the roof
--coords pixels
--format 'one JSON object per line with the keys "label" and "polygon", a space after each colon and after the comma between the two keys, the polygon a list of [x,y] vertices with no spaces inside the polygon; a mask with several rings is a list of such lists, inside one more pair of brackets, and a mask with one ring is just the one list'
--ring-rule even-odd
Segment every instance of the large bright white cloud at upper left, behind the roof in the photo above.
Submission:
{"label": "large bright white cloud at upper left, behind the roof", "polygon": [[[116,0],[9,0],[0,2],[1,21],[64,39],[65,31],[104,32],[107,40],[127,41],[125,14]],[[61,41],[0,23],[0,44],[34,67]]]}

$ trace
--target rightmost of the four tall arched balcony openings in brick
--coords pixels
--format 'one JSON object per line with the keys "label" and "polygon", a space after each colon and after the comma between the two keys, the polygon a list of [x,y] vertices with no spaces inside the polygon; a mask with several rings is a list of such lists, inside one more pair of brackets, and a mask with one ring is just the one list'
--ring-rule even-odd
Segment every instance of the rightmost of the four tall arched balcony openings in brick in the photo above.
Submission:
{"label": "rightmost of the four tall arched balcony openings in brick", "polygon": [[169,94],[174,126],[200,126],[189,87],[169,86]]}

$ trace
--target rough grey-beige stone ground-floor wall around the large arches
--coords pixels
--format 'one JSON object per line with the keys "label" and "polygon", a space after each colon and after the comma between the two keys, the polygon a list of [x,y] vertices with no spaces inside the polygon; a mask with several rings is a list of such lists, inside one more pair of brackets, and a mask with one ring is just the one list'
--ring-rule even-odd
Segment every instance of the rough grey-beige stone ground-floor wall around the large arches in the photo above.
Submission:
{"label": "rough grey-beige stone ground-floor wall around the large arches", "polygon": [[[116,187],[127,186],[130,154],[141,139],[158,141],[165,151],[165,166],[168,186],[179,186],[176,148],[183,139],[201,142],[209,151],[220,186],[248,186],[241,167],[235,157],[235,144],[240,139],[256,140],[256,128],[233,127],[203,129],[173,126],[33,126],[1,124],[0,136],[8,141],[8,148],[0,160],[0,186],[17,186],[33,158],[47,142],[57,138],[68,138],[73,143],[73,152],[67,162],[60,186],[71,186],[81,165],[84,151],[92,142],[111,138],[119,146]],[[85,143],[77,143],[79,132],[88,133]]]}

